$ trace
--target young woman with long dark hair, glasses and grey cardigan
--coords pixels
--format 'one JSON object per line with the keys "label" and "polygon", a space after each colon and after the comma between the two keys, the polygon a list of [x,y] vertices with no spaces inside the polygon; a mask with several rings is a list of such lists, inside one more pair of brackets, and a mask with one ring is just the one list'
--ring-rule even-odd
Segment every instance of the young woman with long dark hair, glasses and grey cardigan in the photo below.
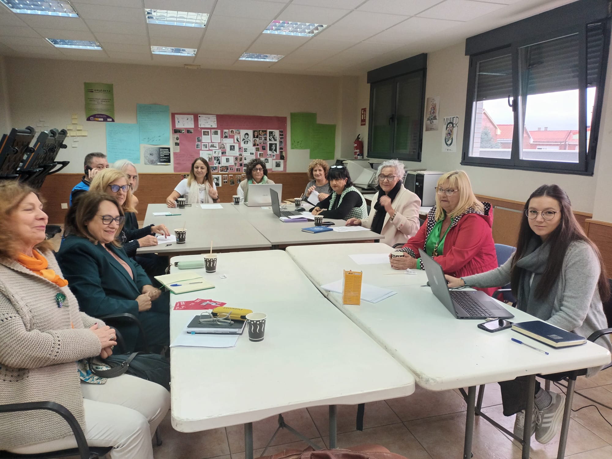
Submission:
{"label": "young woman with long dark hair, glasses and grey cardigan", "polygon": [[[608,327],[602,300],[610,297],[605,267],[597,247],[572,213],[567,194],[558,185],[542,185],[529,196],[518,234],[517,251],[497,269],[455,278],[449,287],[507,285],[517,308],[554,326],[588,337]],[[612,351],[607,337],[597,343]],[[599,371],[589,368],[588,376]],[[561,378],[556,378],[557,380]],[[504,415],[517,413],[514,433],[523,436],[527,378],[499,383]],[[565,397],[535,383],[532,434],[540,443],[554,438],[561,425]]]}

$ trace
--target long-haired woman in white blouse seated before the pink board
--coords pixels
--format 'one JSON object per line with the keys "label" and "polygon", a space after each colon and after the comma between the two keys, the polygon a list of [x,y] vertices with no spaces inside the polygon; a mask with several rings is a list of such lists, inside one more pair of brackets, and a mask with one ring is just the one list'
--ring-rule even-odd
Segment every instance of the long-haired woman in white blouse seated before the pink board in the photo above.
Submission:
{"label": "long-haired woman in white blouse seated before the pink board", "polygon": [[180,196],[190,204],[219,202],[219,193],[212,182],[211,167],[206,159],[196,158],[193,161],[189,177],[182,179],[166,198],[168,207],[176,207],[176,198]]}

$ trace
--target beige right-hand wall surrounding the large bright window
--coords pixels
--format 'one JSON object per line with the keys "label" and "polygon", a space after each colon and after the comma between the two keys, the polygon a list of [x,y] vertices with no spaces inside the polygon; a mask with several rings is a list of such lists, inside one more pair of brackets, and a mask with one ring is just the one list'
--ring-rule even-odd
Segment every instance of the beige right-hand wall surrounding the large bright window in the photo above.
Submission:
{"label": "beige right-hand wall surrounding the large bright window", "polygon": [[[407,58],[409,56],[406,56]],[[612,64],[612,62],[611,62]],[[609,188],[612,174],[612,158],[604,158],[608,144],[612,143],[612,94],[607,86],[612,79],[608,69],[608,81],[603,106],[607,108],[600,128],[599,157],[595,164],[594,176],[570,174],[551,174],[532,171],[508,170],[474,166],[461,166],[461,146],[465,127],[465,103],[468,84],[469,58],[465,56],[465,42],[428,54],[427,89],[425,97],[440,96],[441,117],[459,116],[457,131],[457,152],[442,152],[443,130],[423,133],[422,161],[406,162],[408,168],[427,168],[428,170],[450,171],[465,170],[471,179],[474,191],[481,195],[496,196],[511,200],[526,200],[537,186],[556,183],[568,193],[575,210],[595,212],[600,218],[612,222],[612,209],[605,188]],[[359,94],[369,94],[365,76],[359,78]],[[597,177],[602,176],[601,192],[595,205],[594,195]],[[604,183],[606,182],[606,183]],[[608,198],[608,199],[604,199]],[[595,218],[595,217],[594,217]]]}

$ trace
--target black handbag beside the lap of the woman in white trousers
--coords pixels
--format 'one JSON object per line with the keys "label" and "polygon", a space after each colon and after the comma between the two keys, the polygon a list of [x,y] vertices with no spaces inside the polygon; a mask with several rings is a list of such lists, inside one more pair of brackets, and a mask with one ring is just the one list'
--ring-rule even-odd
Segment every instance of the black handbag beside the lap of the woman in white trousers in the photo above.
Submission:
{"label": "black handbag beside the lap of the woman in white trousers", "polygon": [[95,376],[116,378],[127,373],[157,383],[170,391],[170,360],[161,354],[113,354],[102,362],[113,368],[95,370],[90,360],[89,369]]}

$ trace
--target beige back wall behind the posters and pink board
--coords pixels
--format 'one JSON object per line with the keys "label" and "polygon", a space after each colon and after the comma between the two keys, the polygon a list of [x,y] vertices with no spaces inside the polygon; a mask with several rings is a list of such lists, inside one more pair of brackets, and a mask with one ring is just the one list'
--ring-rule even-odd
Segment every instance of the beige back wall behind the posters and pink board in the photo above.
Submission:
{"label": "beige back wall behind the posters and pink board", "polygon": [[[71,114],[88,131],[78,148],[61,151],[59,160],[70,160],[65,172],[83,170],[83,157],[106,151],[105,123],[85,122],[83,83],[113,83],[117,122],[136,122],[136,103],[170,105],[171,112],[286,116],[312,111],[317,121],[336,124],[336,157],[349,149],[356,135],[354,92],[357,77],[303,76],[222,70],[186,70],[149,65],[98,62],[6,59],[12,124],[25,127],[44,118],[50,127],[70,124]],[[0,61],[0,78],[1,78]],[[1,86],[0,80],[0,86]],[[0,110],[2,99],[0,94]],[[0,115],[1,117],[1,115]],[[1,123],[1,121],[0,121]],[[2,124],[0,124],[0,127]],[[288,133],[286,144],[290,143]],[[307,150],[289,149],[287,170],[301,172],[310,159]],[[138,167],[140,172],[172,172],[172,166]]]}

